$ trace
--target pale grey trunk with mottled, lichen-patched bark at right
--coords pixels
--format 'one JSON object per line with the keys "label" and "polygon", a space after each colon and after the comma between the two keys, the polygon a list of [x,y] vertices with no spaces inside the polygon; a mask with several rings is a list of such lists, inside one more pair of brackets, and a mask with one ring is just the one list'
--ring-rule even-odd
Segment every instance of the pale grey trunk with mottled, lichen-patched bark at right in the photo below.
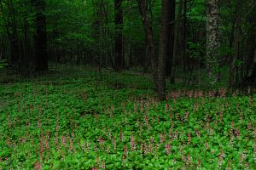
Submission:
{"label": "pale grey trunk with mottled, lichen-patched bark at right", "polygon": [[210,83],[218,80],[219,0],[207,0],[207,71]]}

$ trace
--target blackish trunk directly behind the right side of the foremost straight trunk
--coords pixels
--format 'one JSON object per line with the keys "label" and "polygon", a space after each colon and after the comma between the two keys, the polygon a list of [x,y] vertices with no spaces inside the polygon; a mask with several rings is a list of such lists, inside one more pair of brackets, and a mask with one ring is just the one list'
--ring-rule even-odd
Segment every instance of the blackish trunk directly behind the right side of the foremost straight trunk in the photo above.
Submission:
{"label": "blackish trunk directly behind the right side of the foremost straight trunk", "polygon": [[174,50],[174,30],[175,30],[175,0],[170,0],[170,9],[168,12],[168,23],[170,25],[170,31],[168,31],[168,37],[170,37],[168,45],[168,57],[166,62],[166,76],[170,77],[172,75],[172,59],[173,59],[173,50]]}

